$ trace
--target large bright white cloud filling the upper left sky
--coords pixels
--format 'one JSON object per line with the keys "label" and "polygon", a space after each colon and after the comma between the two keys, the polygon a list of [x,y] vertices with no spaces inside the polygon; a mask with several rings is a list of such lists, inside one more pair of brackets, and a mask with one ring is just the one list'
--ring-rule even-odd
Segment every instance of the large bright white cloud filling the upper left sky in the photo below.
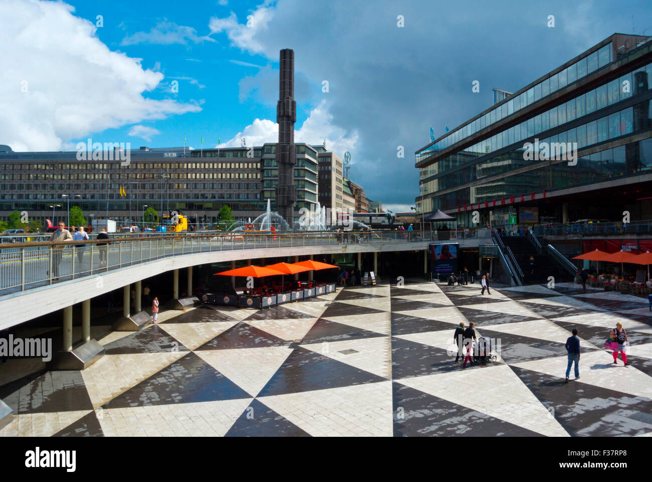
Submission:
{"label": "large bright white cloud filling the upper left sky", "polygon": [[201,110],[143,97],[163,74],[111,52],[95,36],[95,25],[72,12],[61,2],[0,2],[2,144],[16,151],[60,150],[104,129]]}

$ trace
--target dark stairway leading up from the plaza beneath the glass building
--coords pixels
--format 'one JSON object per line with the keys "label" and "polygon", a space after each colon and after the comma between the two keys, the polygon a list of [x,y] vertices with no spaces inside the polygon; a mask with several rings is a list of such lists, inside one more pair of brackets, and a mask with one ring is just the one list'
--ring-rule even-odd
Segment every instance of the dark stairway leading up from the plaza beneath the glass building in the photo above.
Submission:
{"label": "dark stairway leading up from the plaza beneath the glass building", "polygon": [[[556,283],[572,281],[571,274],[559,266],[545,250],[539,254],[527,236],[501,236],[501,240],[512,250],[516,263],[523,272],[524,285],[548,283],[549,276],[554,276]],[[530,257],[534,258],[533,261]]]}

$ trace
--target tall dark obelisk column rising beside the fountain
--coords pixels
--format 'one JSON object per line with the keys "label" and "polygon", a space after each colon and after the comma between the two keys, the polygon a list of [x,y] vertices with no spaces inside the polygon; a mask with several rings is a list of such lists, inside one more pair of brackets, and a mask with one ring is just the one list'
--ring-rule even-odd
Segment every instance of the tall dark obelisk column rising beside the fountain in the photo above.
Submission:
{"label": "tall dark obelisk column rising beside the fountain", "polygon": [[294,50],[284,48],[280,51],[278,104],[276,104],[276,122],[278,123],[276,210],[288,221],[290,229],[294,229],[294,203],[297,201],[297,189],[294,186],[294,165],[297,162],[297,151],[294,146],[294,123],[296,121]]}

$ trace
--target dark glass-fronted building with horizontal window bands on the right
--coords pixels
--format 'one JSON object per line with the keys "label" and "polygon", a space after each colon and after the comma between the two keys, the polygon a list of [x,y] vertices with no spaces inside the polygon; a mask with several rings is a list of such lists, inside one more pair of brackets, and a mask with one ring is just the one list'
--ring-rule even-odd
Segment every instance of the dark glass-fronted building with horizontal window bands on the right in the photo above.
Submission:
{"label": "dark glass-fronted building with horizontal window bands on the right", "polygon": [[462,225],[651,219],[651,39],[614,34],[417,151],[417,208]]}

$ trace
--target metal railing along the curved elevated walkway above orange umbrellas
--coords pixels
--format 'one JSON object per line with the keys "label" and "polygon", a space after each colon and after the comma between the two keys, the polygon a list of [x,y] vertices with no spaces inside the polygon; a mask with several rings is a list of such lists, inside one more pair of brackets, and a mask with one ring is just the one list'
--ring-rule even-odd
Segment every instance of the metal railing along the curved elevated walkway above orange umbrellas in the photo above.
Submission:
{"label": "metal railing along the curved elevated walkway above orange umbrellas", "polygon": [[175,233],[108,240],[0,244],[0,295],[191,253],[434,240],[434,232],[319,231]]}

